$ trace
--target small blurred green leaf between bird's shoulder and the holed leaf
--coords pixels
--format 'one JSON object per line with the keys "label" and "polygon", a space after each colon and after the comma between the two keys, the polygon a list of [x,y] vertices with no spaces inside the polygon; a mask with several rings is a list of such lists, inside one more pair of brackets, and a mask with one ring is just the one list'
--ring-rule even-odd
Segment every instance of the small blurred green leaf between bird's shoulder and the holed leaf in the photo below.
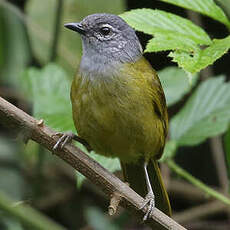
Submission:
{"label": "small blurred green leaf between bird's shoulder and the holed leaf", "polygon": [[191,78],[191,82],[186,77],[186,73],[178,67],[167,67],[158,72],[162,87],[165,92],[166,102],[171,106],[178,102],[197,81],[198,75]]}

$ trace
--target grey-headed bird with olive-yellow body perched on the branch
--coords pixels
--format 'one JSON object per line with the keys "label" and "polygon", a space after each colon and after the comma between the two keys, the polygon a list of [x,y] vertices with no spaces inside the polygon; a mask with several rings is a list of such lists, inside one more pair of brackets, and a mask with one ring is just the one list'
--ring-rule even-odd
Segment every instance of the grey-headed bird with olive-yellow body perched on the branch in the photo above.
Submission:
{"label": "grey-headed bird with olive-yellow body perched on the branch", "polygon": [[124,180],[145,197],[143,220],[155,206],[171,216],[157,162],[168,133],[166,99],[134,29],[107,13],[64,26],[82,40],[82,58],[71,86],[78,136],[64,134],[54,149],[75,139],[97,154],[118,157]]}

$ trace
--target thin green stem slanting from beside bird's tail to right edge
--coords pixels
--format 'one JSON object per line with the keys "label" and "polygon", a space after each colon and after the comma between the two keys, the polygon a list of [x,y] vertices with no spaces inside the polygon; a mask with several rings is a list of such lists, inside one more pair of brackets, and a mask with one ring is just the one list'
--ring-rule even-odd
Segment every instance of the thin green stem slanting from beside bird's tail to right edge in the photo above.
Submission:
{"label": "thin green stem slanting from beside bird's tail to right edge", "polygon": [[199,189],[207,193],[209,196],[214,197],[217,200],[220,200],[227,205],[230,205],[230,199],[228,197],[215,191],[214,189],[210,188],[209,186],[207,186],[206,184],[204,184],[203,182],[201,182],[200,180],[192,176],[190,173],[188,173],[187,171],[182,169],[179,165],[177,165],[172,159],[168,159],[166,163],[178,175],[185,178],[187,181],[189,181],[190,183],[192,183],[193,185],[195,185],[196,187],[198,187]]}

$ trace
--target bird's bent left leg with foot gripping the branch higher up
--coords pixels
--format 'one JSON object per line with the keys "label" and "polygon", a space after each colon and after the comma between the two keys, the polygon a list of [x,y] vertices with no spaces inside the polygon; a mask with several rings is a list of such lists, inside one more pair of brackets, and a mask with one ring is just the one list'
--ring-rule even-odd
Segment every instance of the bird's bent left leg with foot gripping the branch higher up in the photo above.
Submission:
{"label": "bird's bent left leg with foot gripping the branch higher up", "polygon": [[75,135],[73,132],[56,133],[55,135],[59,135],[61,137],[58,139],[58,141],[54,145],[53,150],[56,150],[58,148],[62,149],[66,145],[66,143],[69,143],[72,140],[75,140],[75,141],[81,143],[82,145],[84,145],[86,147],[86,149],[88,150],[88,152],[90,152],[92,150],[92,148],[90,147],[90,145],[88,144],[88,142],[86,140]]}

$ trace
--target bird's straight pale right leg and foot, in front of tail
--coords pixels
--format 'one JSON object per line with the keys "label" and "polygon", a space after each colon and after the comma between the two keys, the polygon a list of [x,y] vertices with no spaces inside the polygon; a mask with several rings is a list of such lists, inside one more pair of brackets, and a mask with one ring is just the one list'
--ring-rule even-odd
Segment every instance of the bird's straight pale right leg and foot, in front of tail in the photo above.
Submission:
{"label": "bird's straight pale right leg and foot, in front of tail", "polygon": [[148,175],[148,171],[147,171],[147,165],[148,165],[148,162],[145,161],[144,172],[145,172],[145,180],[146,180],[146,186],[147,186],[148,193],[145,196],[145,202],[140,209],[143,209],[146,206],[148,209],[147,209],[147,211],[143,217],[143,221],[147,220],[147,218],[151,215],[151,212],[155,207],[155,196],[154,196],[153,189],[152,189],[152,186],[150,183],[150,179],[149,179],[149,175]]}

